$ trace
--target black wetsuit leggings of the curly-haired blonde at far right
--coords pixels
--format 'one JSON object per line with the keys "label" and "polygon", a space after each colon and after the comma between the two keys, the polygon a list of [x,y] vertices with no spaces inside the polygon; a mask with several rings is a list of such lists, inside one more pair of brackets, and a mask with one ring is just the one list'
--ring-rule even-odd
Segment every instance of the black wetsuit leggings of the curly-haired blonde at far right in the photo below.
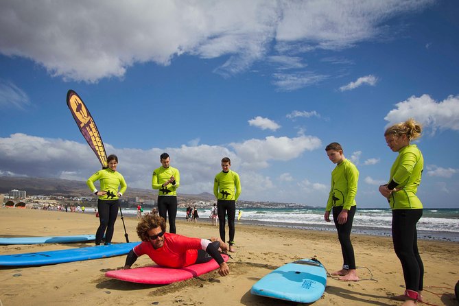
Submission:
{"label": "black wetsuit leggings of the curly-haired blonde at far right", "polygon": [[392,211],[392,242],[401,262],[405,288],[423,290],[424,265],[418,250],[416,223],[423,209],[394,209]]}

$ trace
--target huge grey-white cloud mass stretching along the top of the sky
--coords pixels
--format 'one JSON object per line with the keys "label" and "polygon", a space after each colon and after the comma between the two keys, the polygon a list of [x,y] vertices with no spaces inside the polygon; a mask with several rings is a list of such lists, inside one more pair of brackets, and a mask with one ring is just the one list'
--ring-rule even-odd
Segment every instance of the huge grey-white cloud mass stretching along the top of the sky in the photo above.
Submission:
{"label": "huge grey-white cloud mass stretching along the top of the sky", "polygon": [[[168,65],[177,56],[227,60],[230,76],[270,58],[281,69],[303,69],[292,54],[343,49],[379,38],[386,21],[422,10],[431,0],[386,1],[0,1],[0,53],[42,65],[65,80],[123,77],[137,62]],[[62,18],[65,16],[65,18]],[[287,57],[291,57],[287,59]],[[293,90],[316,75],[277,75]]]}

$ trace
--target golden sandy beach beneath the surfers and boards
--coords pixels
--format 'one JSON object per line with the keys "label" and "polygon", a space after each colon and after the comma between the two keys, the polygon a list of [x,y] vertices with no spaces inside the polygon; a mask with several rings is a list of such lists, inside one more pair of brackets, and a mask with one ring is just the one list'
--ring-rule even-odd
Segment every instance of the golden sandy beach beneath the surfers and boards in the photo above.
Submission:
{"label": "golden sandy beach beneath the surfers and boards", "polygon": [[[131,242],[139,241],[137,218],[125,217]],[[0,209],[2,237],[89,235],[99,220],[93,214],[30,209]],[[190,237],[218,236],[209,219],[177,222],[177,233]],[[121,218],[113,242],[126,242]],[[1,267],[0,305],[295,305],[253,296],[250,287],[275,268],[296,259],[317,257],[329,272],[342,265],[336,233],[270,226],[237,224],[237,252],[228,261],[231,272],[217,272],[171,285],[141,285],[108,279],[104,273],[123,266],[125,256],[60,263],[51,266]],[[0,254],[62,250],[87,244],[38,244],[0,246]],[[314,305],[401,305],[390,296],[404,291],[401,265],[390,237],[353,235],[361,281],[327,279],[325,294]],[[423,296],[432,305],[458,305],[454,285],[459,280],[457,242],[419,241],[425,266]],[[140,257],[133,268],[151,265]],[[373,280],[370,280],[372,278]]]}

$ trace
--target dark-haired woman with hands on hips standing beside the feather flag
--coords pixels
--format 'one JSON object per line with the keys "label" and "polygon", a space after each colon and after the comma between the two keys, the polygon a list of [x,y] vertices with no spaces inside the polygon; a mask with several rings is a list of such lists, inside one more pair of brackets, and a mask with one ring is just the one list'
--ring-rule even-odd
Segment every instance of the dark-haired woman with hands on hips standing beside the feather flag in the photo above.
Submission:
{"label": "dark-haired woman with hands on hips standing beside the feather flag", "polygon": [[[108,167],[95,172],[86,181],[89,189],[93,191],[97,200],[97,209],[99,211],[100,225],[95,234],[95,244],[99,245],[105,234],[105,244],[111,244],[113,238],[113,231],[115,231],[115,221],[117,220],[119,210],[119,197],[121,197],[128,188],[123,176],[117,172],[118,157],[116,155],[109,155],[107,157]],[[94,186],[94,182],[99,180],[100,191]],[[121,189],[118,191],[118,188]]]}

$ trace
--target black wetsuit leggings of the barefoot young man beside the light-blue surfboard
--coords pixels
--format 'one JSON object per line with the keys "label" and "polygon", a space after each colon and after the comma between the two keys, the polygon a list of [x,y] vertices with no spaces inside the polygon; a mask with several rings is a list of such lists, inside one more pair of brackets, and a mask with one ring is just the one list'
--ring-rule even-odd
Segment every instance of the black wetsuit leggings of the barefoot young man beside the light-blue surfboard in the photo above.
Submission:
{"label": "black wetsuit leggings of the barefoot young man beside the light-blue surfboard", "polygon": [[342,206],[333,207],[333,221],[338,231],[338,239],[341,244],[343,268],[350,270],[355,269],[354,248],[351,243],[352,222],[354,221],[356,206],[351,206],[347,212],[347,221],[344,224],[338,224],[338,215],[342,211]]}

